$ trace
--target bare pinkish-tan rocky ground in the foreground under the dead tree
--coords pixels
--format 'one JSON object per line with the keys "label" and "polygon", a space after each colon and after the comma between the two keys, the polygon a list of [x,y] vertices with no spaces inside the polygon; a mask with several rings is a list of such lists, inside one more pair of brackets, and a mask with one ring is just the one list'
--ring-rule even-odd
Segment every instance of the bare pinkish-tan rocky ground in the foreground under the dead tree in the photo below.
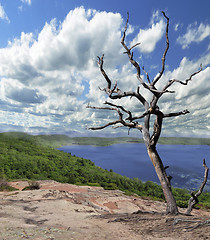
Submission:
{"label": "bare pinkish-tan rocky ground in the foreground under the dead tree", "polygon": [[210,212],[163,215],[162,202],[55,181],[11,185],[19,191],[0,193],[0,240],[210,239]]}

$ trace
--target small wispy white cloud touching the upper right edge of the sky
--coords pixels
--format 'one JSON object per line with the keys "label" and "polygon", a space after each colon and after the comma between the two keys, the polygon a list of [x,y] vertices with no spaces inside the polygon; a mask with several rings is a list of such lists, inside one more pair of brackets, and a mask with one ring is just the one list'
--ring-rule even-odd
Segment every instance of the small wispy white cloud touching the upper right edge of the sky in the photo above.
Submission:
{"label": "small wispy white cloud touching the upper right edge of the sky", "polygon": [[199,43],[202,42],[205,38],[210,37],[210,25],[201,23],[197,26],[197,23],[194,25],[191,24],[187,28],[187,32],[180,36],[177,39],[177,42],[182,45],[182,48],[188,48],[189,45],[193,42]]}

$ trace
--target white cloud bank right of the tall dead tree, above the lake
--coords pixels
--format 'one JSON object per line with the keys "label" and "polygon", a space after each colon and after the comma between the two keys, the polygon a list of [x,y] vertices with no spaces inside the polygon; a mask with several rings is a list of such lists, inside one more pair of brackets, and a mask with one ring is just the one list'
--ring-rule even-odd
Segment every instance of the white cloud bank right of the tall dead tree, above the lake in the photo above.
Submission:
{"label": "white cloud bank right of the tall dead tree, above the lake", "polygon": [[172,135],[192,134],[200,137],[209,136],[207,125],[210,121],[208,115],[210,112],[209,62],[210,54],[196,61],[190,61],[184,57],[178,68],[164,74],[163,83],[170,79],[184,81],[199,69],[200,63],[203,63],[204,66],[203,71],[192,77],[192,81],[189,81],[188,85],[175,83],[170,87],[170,90],[175,90],[175,94],[165,94],[160,100],[159,105],[164,113],[180,112],[185,109],[190,111],[189,114],[184,116],[165,119],[163,133],[171,132]]}

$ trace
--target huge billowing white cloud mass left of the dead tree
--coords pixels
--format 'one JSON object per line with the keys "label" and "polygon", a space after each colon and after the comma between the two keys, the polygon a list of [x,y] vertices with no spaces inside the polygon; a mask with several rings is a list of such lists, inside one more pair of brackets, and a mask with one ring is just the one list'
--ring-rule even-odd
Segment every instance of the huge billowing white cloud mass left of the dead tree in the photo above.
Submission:
{"label": "huge billowing white cloud mass left of the dead tree", "polygon": [[56,19],[46,23],[37,37],[21,33],[0,49],[1,98],[14,106],[13,111],[21,106],[27,115],[59,116],[63,127],[81,121],[84,129],[85,99],[93,96],[95,80],[95,86],[104,84],[98,77],[96,56],[106,53],[107,68],[124,61],[122,22],[118,13],[80,7],[61,23]]}

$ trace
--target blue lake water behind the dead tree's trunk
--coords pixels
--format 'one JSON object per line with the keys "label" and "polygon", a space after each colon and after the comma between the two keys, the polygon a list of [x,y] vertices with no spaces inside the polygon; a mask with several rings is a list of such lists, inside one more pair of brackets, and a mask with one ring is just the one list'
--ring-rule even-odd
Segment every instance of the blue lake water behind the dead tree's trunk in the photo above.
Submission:
{"label": "blue lake water behind the dead tree's trunk", "polygon": [[[130,178],[159,183],[144,144],[114,144],[106,147],[73,145],[59,150],[90,159],[99,167],[112,169]],[[204,175],[204,158],[210,167],[210,146],[158,145],[157,150],[164,166],[169,166],[167,174],[173,176],[172,186],[187,189],[197,189],[200,186]],[[210,191],[209,180],[205,190]]]}

